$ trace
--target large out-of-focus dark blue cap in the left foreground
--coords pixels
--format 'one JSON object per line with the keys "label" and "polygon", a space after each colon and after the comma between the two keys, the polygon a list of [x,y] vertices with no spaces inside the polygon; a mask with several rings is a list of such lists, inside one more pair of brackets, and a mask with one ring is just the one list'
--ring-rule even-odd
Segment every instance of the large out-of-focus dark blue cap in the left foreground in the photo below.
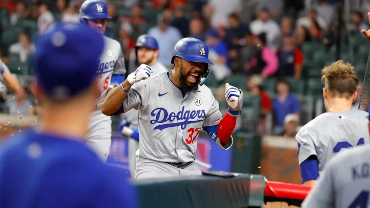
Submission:
{"label": "large out-of-focus dark blue cap in the left foreground", "polygon": [[67,99],[86,90],[97,75],[103,36],[86,26],[56,24],[36,45],[36,80],[48,97]]}

